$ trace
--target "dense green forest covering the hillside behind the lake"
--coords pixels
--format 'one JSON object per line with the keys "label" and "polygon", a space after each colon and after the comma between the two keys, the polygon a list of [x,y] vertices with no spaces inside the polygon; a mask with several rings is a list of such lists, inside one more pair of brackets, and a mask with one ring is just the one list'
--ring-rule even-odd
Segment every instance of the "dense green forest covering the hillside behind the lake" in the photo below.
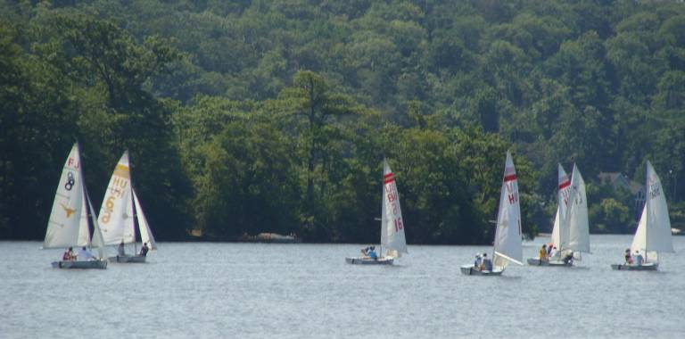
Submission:
{"label": "dense green forest covering the hillside behind the lake", "polygon": [[[524,231],[557,163],[592,232],[660,174],[685,219],[685,4],[587,0],[0,0],[0,239],[41,239],[81,145],[99,206],[128,149],[161,240],[377,242],[382,160],[409,244],[486,244],[505,153]],[[680,180],[679,180],[680,179]]]}

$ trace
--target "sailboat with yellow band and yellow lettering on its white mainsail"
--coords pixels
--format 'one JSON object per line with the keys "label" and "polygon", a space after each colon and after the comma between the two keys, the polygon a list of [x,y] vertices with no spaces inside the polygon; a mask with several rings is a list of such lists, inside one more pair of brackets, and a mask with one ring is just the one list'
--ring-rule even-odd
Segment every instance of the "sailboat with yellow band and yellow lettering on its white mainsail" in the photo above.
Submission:
{"label": "sailboat with yellow band and yellow lettering on its white mainsail", "polygon": [[[105,245],[136,244],[136,227],[141,242],[153,251],[157,249],[153,232],[145,219],[143,208],[138,201],[136,191],[131,185],[128,151],[125,151],[114,172],[110,184],[104,194],[103,205],[100,208],[99,224],[103,229]],[[122,249],[123,250],[123,249]],[[143,254],[123,254],[110,257],[116,262],[145,262]]]}

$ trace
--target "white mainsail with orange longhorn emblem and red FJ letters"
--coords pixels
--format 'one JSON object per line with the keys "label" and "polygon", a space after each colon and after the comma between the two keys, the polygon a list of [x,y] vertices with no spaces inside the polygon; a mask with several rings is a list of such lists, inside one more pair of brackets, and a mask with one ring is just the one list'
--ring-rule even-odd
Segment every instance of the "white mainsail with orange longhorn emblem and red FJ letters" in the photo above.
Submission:
{"label": "white mainsail with orange longhorn emblem and red FJ letters", "polygon": [[53,209],[45,231],[44,248],[85,246],[88,244],[88,228],[83,226],[85,214],[83,172],[78,143],[71,147],[62,168]]}

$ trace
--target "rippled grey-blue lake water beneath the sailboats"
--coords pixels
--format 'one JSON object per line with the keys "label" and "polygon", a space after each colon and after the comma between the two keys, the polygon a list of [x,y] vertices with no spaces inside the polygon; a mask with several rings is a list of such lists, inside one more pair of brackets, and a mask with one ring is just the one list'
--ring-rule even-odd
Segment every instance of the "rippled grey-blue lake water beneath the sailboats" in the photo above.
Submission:
{"label": "rippled grey-blue lake water beneath the sailboats", "polygon": [[67,270],[60,250],[0,242],[0,337],[685,337],[685,237],[658,272],[609,267],[631,236],[590,242],[577,267],[502,277],[459,272],[487,246],[410,244],[365,267],[345,263],[355,244],[161,243],[146,264]]}

